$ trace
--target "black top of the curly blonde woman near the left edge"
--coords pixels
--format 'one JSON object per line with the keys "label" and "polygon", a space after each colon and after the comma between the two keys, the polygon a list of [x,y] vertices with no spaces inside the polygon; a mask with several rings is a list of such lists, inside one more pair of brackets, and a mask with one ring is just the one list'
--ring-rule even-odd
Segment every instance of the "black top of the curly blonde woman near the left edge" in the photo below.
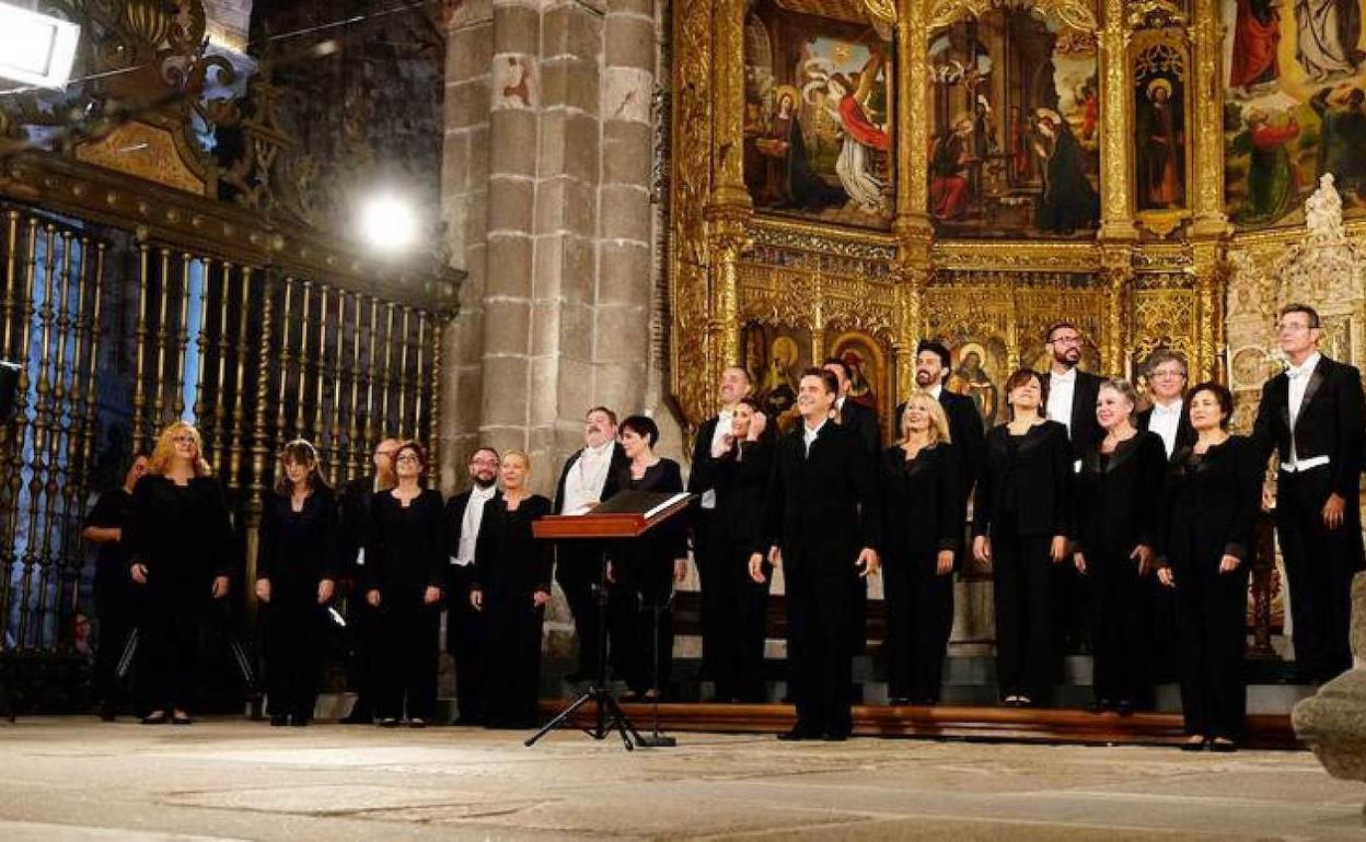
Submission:
{"label": "black top of the curly blonde woman near the left edge", "polygon": [[133,513],[123,534],[128,554],[148,568],[149,587],[205,588],[228,576],[238,562],[238,543],[223,484],[195,476],[179,486],[148,474],[133,489]]}

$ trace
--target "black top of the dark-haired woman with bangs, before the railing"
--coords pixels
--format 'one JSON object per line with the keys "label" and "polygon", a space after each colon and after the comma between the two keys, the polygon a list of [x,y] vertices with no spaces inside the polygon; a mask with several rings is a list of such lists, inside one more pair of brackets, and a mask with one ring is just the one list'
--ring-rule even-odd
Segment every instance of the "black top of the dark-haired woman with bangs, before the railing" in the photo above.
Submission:
{"label": "black top of the dark-haired woman with bangs, before the railing", "polygon": [[316,489],[294,510],[290,494],[266,493],[261,510],[261,547],[257,577],[269,579],[275,590],[306,594],[317,591],[320,579],[336,579],[339,519],[332,489]]}

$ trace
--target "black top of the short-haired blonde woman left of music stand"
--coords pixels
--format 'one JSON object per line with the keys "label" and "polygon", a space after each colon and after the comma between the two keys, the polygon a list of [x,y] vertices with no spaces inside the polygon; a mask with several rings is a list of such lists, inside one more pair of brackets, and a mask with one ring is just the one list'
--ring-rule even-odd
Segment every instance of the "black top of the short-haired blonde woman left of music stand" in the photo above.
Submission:
{"label": "black top of the short-haired blonde woman left of music stand", "polygon": [[479,538],[474,545],[477,580],[470,590],[484,591],[490,603],[526,600],[535,591],[550,592],[555,543],[537,540],[531,524],[550,513],[550,501],[533,494],[508,510],[503,491],[484,504]]}

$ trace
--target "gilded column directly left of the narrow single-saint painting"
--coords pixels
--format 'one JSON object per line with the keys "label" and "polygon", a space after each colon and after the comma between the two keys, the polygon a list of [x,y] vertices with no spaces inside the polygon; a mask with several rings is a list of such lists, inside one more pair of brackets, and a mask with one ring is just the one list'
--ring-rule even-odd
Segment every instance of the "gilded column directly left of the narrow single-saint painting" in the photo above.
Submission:
{"label": "gilded column directly left of the narrow single-saint painting", "polygon": [[[1134,124],[1128,100],[1128,30],[1124,0],[1104,0],[1100,29],[1101,231],[1102,240],[1132,240],[1128,173],[1134,169]],[[1223,135],[1220,135],[1223,136]],[[1221,183],[1223,184],[1223,183]]]}

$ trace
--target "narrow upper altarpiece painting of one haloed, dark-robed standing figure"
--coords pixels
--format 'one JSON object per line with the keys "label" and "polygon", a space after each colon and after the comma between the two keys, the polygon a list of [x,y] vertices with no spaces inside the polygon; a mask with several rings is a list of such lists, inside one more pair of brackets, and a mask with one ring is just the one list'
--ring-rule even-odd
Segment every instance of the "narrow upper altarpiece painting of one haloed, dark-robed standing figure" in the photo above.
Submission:
{"label": "narrow upper altarpiece painting of one haloed, dark-robed standing figure", "polygon": [[[1167,29],[1141,35],[1150,42],[1134,56],[1134,205],[1141,217],[1145,212],[1171,217],[1169,212],[1186,207],[1187,61],[1183,30]],[[1175,227],[1175,220],[1171,227]]]}

